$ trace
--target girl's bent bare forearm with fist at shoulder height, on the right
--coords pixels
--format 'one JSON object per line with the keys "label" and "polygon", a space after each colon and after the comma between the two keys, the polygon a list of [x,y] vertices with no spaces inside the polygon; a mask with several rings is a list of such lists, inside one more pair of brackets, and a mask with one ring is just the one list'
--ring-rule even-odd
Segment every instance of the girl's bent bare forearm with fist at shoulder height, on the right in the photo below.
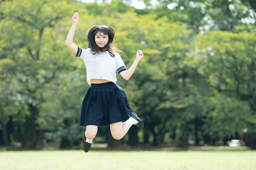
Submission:
{"label": "girl's bent bare forearm with fist at shoulder height, on the right", "polygon": [[140,51],[140,50],[138,50],[138,51],[137,51],[137,54],[136,54],[136,58],[135,58],[133,64],[131,65],[131,67],[130,67],[128,70],[122,71],[122,72],[120,73],[120,75],[121,75],[125,80],[128,80],[128,79],[131,78],[131,76],[132,76],[132,74],[134,73],[134,71],[135,71],[137,65],[138,65],[139,62],[140,62],[140,59],[142,59],[143,56],[144,56],[144,55],[143,55],[143,52]]}

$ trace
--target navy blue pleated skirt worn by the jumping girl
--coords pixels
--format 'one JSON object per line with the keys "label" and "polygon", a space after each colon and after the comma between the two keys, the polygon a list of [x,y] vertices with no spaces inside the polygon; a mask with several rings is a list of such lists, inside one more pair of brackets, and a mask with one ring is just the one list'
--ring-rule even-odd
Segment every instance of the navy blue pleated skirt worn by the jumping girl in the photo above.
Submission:
{"label": "navy blue pleated skirt worn by the jumping girl", "polygon": [[113,82],[91,84],[81,108],[80,125],[106,126],[132,116],[125,91]]}

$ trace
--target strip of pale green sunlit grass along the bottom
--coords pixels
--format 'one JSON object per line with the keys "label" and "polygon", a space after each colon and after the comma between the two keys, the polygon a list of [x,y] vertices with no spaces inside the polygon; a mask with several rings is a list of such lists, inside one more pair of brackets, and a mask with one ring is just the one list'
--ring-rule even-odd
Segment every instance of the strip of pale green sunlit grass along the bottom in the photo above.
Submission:
{"label": "strip of pale green sunlit grass along the bottom", "polygon": [[256,152],[4,151],[0,170],[256,170]]}

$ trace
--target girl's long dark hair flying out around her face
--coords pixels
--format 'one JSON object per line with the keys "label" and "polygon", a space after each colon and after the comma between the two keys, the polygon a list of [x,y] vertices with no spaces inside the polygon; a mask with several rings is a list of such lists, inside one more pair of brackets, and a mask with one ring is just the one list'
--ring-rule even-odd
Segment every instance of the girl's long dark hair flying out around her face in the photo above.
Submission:
{"label": "girl's long dark hair flying out around her face", "polygon": [[114,37],[115,37],[115,31],[113,30],[113,28],[111,28],[110,26],[95,26],[90,29],[90,31],[87,35],[87,40],[89,42],[88,48],[91,48],[92,53],[96,54],[96,53],[101,52],[99,50],[99,46],[95,42],[95,35],[97,34],[97,32],[99,32],[100,35],[108,34],[108,43],[102,48],[102,51],[105,52],[108,49],[111,52],[116,52],[116,51],[123,52],[123,51],[119,50],[118,48],[111,46],[111,43],[113,42]]}

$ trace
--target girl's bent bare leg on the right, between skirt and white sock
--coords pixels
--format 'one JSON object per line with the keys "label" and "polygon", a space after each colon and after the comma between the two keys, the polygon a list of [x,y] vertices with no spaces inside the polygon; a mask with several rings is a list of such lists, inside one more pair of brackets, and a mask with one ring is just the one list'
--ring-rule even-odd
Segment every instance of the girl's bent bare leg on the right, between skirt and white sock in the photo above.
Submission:
{"label": "girl's bent bare leg on the right, between skirt and white sock", "polygon": [[116,122],[110,125],[110,131],[114,139],[122,139],[131,127],[130,121]]}

